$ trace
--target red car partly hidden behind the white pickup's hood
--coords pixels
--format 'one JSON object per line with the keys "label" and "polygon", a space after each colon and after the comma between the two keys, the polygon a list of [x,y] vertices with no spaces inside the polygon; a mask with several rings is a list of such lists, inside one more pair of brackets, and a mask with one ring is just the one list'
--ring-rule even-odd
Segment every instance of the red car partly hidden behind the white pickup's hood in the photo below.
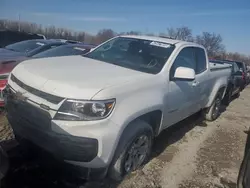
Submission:
{"label": "red car partly hidden behind the white pickup's hood", "polygon": [[[55,46],[53,45],[59,45]],[[19,57],[16,60],[8,60],[0,63],[0,107],[4,106],[4,100],[3,100],[3,93],[6,84],[7,84],[7,78],[9,73],[12,71],[12,69],[19,64],[20,62],[31,59],[31,58],[44,58],[44,57],[58,57],[58,56],[69,56],[69,55],[83,55],[90,51],[90,49],[94,48],[93,45],[86,45],[86,44],[68,44],[68,43],[48,43],[44,45],[51,47],[48,50],[42,51],[40,53],[34,53],[34,51],[41,51],[40,48],[37,50],[34,50],[30,54],[35,54],[33,56],[27,56],[27,57]],[[47,47],[46,47],[47,48]],[[44,50],[45,48],[43,48]]]}

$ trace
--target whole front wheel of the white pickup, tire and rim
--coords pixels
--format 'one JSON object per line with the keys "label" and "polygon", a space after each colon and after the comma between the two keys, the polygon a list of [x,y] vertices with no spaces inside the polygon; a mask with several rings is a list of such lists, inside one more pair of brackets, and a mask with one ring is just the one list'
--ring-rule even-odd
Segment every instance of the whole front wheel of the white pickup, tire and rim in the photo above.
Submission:
{"label": "whole front wheel of the white pickup, tire and rim", "polygon": [[109,177],[115,181],[121,181],[124,176],[140,168],[151,154],[152,127],[141,120],[136,120],[129,127],[132,129],[124,131],[109,168]]}

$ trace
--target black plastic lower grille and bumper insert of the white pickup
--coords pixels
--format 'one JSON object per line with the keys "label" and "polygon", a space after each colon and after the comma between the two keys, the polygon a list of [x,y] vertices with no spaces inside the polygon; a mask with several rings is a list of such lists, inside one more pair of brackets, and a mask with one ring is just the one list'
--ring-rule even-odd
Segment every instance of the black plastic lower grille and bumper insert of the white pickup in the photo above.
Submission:
{"label": "black plastic lower grille and bumper insert of the white pickup", "polygon": [[[25,106],[20,111],[20,106]],[[34,144],[52,153],[56,158],[78,162],[90,162],[97,156],[98,141],[93,138],[77,137],[72,135],[57,134],[51,131],[49,116],[34,109],[30,104],[18,104],[7,102],[7,117],[13,128],[14,134],[19,138],[25,138]],[[24,113],[26,109],[26,113]],[[37,116],[27,112],[34,111]],[[47,121],[47,123],[46,123]],[[40,124],[43,122],[44,124]],[[47,125],[46,125],[47,124]]]}

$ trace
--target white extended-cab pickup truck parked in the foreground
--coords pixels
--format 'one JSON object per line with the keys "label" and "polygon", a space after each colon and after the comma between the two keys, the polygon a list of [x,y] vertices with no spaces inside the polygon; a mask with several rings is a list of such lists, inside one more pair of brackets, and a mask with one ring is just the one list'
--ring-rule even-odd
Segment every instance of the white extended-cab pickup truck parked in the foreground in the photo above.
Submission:
{"label": "white extended-cab pickup truck parked in the foreground", "polygon": [[7,116],[26,139],[85,178],[120,180],[150,155],[154,137],[200,111],[219,115],[231,73],[195,43],[119,36],[83,56],[27,60],[6,89]]}

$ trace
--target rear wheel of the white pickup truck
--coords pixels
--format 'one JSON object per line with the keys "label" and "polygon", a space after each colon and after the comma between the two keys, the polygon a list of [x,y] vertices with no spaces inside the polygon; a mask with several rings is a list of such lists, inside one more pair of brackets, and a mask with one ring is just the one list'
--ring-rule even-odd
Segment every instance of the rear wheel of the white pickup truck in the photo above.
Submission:
{"label": "rear wheel of the white pickup truck", "polygon": [[208,121],[216,120],[220,115],[221,94],[217,94],[212,105],[205,112],[205,119]]}

